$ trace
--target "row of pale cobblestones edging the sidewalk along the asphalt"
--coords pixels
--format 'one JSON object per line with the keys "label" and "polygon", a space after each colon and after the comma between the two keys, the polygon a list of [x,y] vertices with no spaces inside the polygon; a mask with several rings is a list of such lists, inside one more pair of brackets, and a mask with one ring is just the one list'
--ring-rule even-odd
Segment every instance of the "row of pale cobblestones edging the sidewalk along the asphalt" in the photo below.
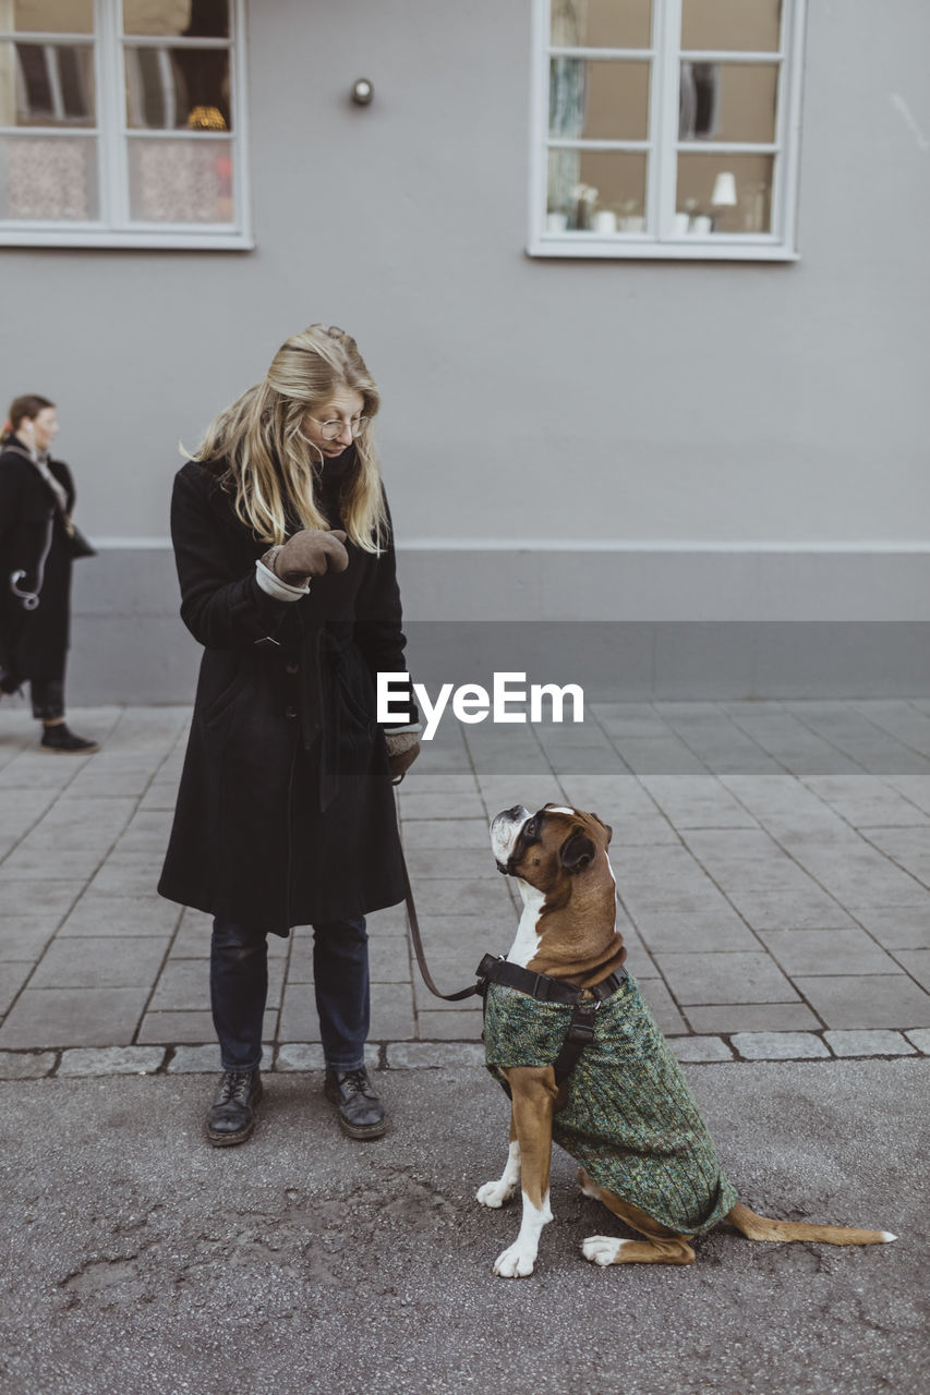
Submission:
{"label": "row of pale cobblestones edging the sidewalk along the asphalt", "polygon": [[[930,1028],[915,1031],[733,1032],[729,1036],[670,1036],[680,1062],[852,1060],[930,1056]],[[369,1042],[370,1070],[431,1070],[441,1066],[483,1066],[480,1042]],[[318,1042],[265,1045],[265,1069],[323,1070]],[[64,1050],[3,1050],[0,1081],[49,1076],[190,1076],[221,1069],[219,1052],[208,1046],[75,1046]]]}

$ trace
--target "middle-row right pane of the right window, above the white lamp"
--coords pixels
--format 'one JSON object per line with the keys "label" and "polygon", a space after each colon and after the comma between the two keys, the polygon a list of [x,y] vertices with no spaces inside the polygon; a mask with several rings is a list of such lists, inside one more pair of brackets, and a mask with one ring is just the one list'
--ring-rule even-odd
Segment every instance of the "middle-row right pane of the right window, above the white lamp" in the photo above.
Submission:
{"label": "middle-row right pane of the right window, above the white lamp", "polygon": [[775,140],[778,63],[683,63],[680,141]]}

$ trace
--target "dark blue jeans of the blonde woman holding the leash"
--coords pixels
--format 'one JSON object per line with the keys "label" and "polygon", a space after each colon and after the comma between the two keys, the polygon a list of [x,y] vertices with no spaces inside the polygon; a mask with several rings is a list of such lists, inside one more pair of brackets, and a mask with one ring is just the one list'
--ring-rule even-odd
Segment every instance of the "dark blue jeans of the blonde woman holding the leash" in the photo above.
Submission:
{"label": "dark blue jeans of the blonde woman holding the leash", "polygon": [[[370,1023],[363,917],[313,926],[313,979],[327,1066],[357,1070],[364,1064]],[[216,918],[209,944],[209,1002],[223,1070],[256,1070],[261,1064],[267,996],[268,932]]]}

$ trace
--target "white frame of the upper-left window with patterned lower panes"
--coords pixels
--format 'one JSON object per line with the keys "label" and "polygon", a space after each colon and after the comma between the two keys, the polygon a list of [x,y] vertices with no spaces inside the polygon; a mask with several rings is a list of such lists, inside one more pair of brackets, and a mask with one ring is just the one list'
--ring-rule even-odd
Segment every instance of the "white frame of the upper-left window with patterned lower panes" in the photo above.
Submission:
{"label": "white frame of the upper-left window with patterned lower panes", "polygon": [[[229,39],[184,39],[175,35],[123,35],[121,0],[94,0],[94,33],[54,33],[56,43],[94,45],[95,126],[0,127],[0,137],[61,137],[96,141],[99,219],[92,222],[0,222],[0,247],[162,247],[207,251],[249,251],[254,247],[246,141],[246,0],[229,0]],[[47,35],[3,31],[1,40],[47,42]],[[229,49],[233,220],[230,223],[140,222],[128,216],[128,141],[215,140],[214,133],[130,128],[126,119],[126,43],[135,47]]]}

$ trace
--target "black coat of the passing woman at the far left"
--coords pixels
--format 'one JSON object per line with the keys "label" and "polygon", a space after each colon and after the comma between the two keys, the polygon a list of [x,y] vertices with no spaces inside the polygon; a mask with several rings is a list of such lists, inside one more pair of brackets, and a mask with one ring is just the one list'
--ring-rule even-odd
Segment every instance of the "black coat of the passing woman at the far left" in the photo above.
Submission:
{"label": "black coat of the passing woman at the far left", "polygon": [[[63,460],[47,462],[50,473],[74,508],[74,481]],[[14,594],[38,594],[27,610]],[[7,437],[0,453],[0,667],[3,686],[15,689],[32,678],[59,678],[64,672],[71,612],[71,540],[54,494],[25,448]]]}

